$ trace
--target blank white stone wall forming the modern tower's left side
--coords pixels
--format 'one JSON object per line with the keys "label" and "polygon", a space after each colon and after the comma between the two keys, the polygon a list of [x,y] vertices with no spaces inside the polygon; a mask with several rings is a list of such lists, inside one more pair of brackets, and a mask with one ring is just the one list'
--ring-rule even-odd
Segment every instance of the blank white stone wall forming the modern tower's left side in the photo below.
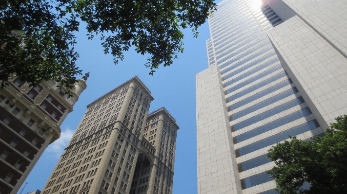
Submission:
{"label": "blank white stone wall forming the modern tower's left side", "polygon": [[219,71],[196,75],[199,194],[241,194]]}

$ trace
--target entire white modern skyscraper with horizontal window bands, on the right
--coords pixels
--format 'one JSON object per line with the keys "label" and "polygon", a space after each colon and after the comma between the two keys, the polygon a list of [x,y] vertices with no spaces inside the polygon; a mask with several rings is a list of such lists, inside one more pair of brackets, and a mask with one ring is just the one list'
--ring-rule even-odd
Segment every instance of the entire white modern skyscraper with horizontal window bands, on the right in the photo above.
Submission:
{"label": "entire white modern skyscraper with horizontal window bands, on the right", "polygon": [[199,194],[276,193],[267,150],[347,114],[346,8],[342,0],[218,4],[209,67],[196,75]]}

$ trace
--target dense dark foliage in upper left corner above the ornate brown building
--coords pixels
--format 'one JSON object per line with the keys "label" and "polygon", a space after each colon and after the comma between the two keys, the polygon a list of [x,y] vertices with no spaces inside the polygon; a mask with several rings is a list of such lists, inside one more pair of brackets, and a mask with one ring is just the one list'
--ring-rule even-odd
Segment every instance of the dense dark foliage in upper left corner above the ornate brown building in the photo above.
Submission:
{"label": "dense dark foliage in upper left corner above the ornate brown building", "polygon": [[81,74],[73,48],[76,18],[62,19],[65,14],[44,0],[4,0],[0,10],[0,45],[5,45],[0,49],[1,87],[16,74],[34,86],[55,80],[71,89],[74,76]]}

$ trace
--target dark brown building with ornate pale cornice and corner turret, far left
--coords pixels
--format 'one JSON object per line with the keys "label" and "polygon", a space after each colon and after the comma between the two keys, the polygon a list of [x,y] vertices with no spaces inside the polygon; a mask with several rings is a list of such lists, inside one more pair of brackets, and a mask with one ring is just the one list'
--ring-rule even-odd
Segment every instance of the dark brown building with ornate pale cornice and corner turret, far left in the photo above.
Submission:
{"label": "dark brown building with ornate pale cornice and corner turret, far left", "polygon": [[12,76],[8,83],[0,90],[0,194],[18,192],[48,144],[59,139],[61,123],[87,87],[77,80],[67,98],[54,81],[34,88]]}

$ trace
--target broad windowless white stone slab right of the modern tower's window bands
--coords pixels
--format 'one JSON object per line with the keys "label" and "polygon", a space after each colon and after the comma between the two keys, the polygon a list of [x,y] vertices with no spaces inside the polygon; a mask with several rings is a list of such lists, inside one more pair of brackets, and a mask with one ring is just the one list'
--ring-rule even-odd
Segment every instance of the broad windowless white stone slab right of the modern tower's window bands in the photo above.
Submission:
{"label": "broad windowless white stone slab right of the modern tower's window bands", "polygon": [[267,34],[293,82],[307,94],[304,99],[317,120],[314,109],[323,117],[320,124],[327,128],[336,117],[347,114],[347,59],[298,16]]}

